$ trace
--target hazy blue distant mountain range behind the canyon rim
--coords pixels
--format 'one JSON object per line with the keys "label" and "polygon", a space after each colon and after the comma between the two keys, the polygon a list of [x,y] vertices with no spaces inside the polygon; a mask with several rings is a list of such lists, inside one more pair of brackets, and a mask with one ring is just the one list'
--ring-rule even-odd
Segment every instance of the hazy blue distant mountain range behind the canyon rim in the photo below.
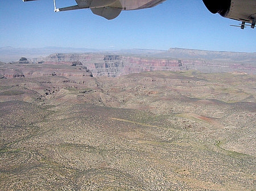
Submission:
{"label": "hazy blue distant mountain range behind the canyon rim", "polygon": [[216,60],[225,62],[246,62],[256,64],[256,53],[244,52],[224,52],[170,48],[169,50],[152,50],[152,49],[121,49],[121,50],[102,50],[88,48],[63,48],[47,46],[43,48],[13,48],[5,46],[0,48],[0,61],[11,62],[17,61],[20,57],[37,58],[46,57],[53,53],[100,53],[100,54],[124,54],[136,56],[148,56],[152,58],[164,59],[203,59]]}

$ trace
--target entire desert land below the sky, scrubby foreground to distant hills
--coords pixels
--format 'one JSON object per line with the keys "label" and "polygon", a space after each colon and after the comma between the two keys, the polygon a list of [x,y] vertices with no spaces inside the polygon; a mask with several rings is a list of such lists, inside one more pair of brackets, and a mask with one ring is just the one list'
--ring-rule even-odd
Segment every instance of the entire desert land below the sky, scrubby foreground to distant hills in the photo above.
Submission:
{"label": "entire desert land below the sky, scrubby foreground to distant hills", "polygon": [[0,49],[0,190],[256,189],[255,53],[19,51]]}

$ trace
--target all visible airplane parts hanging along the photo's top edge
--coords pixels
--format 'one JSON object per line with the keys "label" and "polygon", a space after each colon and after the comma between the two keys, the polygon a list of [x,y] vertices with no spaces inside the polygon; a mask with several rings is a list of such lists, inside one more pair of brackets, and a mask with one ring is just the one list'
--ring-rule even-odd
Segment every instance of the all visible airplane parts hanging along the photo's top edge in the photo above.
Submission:
{"label": "all visible airplane parts hanging along the photo's top edge", "polygon": [[[55,12],[90,9],[94,14],[110,20],[116,18],[122,10],[147,9],[166,0],[75,0],[77,5],[60,9],[56,9],[55,0],[53,1]],[[256,0],[203,0],[203,2],[213,14],[218,13],[225,18],[240,20],[241,29],[247,26],[246,23],[250,23],[251,28],[255,27]]]}

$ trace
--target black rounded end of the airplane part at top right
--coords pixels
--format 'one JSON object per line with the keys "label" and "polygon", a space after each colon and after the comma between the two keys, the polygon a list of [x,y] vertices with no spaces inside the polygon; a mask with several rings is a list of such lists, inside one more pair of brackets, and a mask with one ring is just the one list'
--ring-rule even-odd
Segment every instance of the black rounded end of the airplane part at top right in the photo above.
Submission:
{"label": "black rounded end of the airplane part at top right", "polygon": [[231,6],[231,0],[203,0],[203,2],[210,12],[224,17],[228,15]]}

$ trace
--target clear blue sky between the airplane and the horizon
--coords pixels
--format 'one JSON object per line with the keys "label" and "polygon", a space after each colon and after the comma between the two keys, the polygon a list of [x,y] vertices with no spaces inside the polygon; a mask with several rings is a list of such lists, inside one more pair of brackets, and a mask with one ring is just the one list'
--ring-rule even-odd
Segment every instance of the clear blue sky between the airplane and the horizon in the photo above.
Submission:
{"label": "clear blue sky between the airplane and the horizon", "polygon": [[[56,0],[57,8],[75,0]],[[256,30],[211,14],[201,0],[167,0],[151,9],[122,11],[106,20],[90,10],[53,12],[53,0],[1,1],[0,47],[95,49],[189,48],[256,52]]]}

